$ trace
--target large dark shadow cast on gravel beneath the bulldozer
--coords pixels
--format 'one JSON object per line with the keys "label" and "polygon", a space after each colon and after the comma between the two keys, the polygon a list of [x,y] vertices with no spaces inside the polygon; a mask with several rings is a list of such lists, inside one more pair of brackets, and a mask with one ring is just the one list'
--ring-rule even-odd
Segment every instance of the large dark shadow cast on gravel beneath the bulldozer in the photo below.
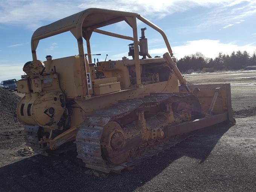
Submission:
{"label": "large dark shadow cast on gravel beneath the bulldozer", "polygon": [[131,171],[108,174],[105,178],[85,174],[88,169],[72,155],[35,155],[0,168],[0,191],[132,191],[167,167],[175,169],[175,160],[183,156],[195,158],[200,165],[231,126],[222,123],[195,131],[194,137],[165,154],[153,157]]}

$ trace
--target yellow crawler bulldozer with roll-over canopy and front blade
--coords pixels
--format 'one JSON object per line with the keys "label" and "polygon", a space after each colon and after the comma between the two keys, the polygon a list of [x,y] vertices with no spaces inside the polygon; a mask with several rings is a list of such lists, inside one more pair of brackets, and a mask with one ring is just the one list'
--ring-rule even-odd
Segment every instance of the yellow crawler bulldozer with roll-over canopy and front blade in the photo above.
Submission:
{"label": "yellow crawler bulldozer with roll-over canopy and front blade", "polygon": [[[137,20],[162,35],[168,50],[163,57],[149,55],[146,28],[138,40]],[[131,27],[131,37],[98,29],[120,21]],[[78,55],[38,60],[41,39],[68,31]],[[132,59],[92,62],[92,33],[130,40]],[[33,61],[24,64],[26,75],[17,82],[18,92],[25,93],[17,114],[26,124],[27,145],[39,154],[72,144],[88,168],[120,172],[190,131],[235,121],[230,84],[187,85],[163,30],[137,13],[86,9],[35,30],[31,49]]]}

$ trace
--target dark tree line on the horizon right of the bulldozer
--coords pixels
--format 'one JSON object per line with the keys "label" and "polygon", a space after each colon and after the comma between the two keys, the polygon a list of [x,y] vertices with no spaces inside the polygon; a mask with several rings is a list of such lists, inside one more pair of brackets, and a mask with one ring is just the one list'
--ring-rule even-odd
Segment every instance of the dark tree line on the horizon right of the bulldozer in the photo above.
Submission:
{"label": "dark tree line on the horizon right of the bulldozer", "polygon": [[215,58],[206,58],[202,53],[197,52],[184,56],[177,61],[177,67],[181,72],[193,69],[201,71],[204,67],[214,70],[239,70],[246,66],[256,66],[256,53],[250,56],[247,51],[232,52],[231,55],[219,53]]}

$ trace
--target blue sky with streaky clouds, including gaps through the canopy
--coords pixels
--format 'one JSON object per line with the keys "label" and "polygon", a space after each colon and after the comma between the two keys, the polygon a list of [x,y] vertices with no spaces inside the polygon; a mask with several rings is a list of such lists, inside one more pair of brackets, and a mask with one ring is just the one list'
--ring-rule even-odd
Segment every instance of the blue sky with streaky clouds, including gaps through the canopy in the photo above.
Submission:
{"label": "blue sky with streaky clouds, including gaps through the canopy", "polygon": [[[0,1],[0,80],[23,75],[22,67],[32,60],[31,36],[38,27],[87,8],[105,8],[137,12],[162,28],[178,59],[195,52],[215,57],[219,52],[256,51],[256,0],[90,0],[90,1]],[[138,29],[147,27],[138,22]],[[104,30],[132,36],[125,22],[102,27]],[[140,37],[140,30],[139,30]],[[166,52],[160,34],[147,27],[149,54]],[[128,56],[131,41],[94,33],[92,53],[99,60]],[[86,50],[85,50],[86,52]],[[70,32],[41,40],[38,59],[77,55],[77,43]]]}

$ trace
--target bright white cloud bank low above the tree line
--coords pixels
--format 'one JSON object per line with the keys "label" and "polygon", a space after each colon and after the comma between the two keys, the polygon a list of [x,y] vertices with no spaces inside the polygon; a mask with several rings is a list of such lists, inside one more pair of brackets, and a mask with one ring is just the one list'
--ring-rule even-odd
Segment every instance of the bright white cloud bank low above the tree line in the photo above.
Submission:
{"label": "bright white cloud bank low above the tree line", "polygon": [[[182,46],[173,46],[172,51],[174,56],[178,59],[184,57],[185,55],[191,55],[196,52],[201,52],[203,55],[209,58],[215,58],[218,56],[219,52],[223,54],[231,54],[233,51],[244,51],[246,50],[249,54],[253,54],[256,50],[255,44],[246,44],[239,46],[235,43],[221,43],[220,40],[195,40],[187,41],[186,44]],[[166,48],[161,49],[150,49],[150,55],[162,56],[163,53],[168,52]]]}

